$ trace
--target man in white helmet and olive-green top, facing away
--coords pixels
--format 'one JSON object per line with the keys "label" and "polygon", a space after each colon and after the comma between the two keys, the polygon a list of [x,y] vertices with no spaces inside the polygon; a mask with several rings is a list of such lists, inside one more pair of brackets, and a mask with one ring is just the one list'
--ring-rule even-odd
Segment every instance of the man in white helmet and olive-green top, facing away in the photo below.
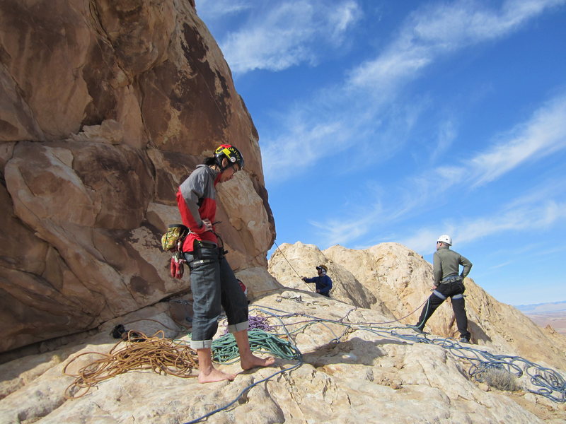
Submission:
{"label": "man in white helmet and olive-green top, facing away", "polygon": [[[456,315],[456,324],[460,331],[460,341],[462,343],[470,343],[470,331],[468,331],[468,317],[466,316],[466,307],[464,305],[463,279],[466,278],[472,263],[468,261],[458,252],[450,250],[452,238],[449,235],[441,235],[437,240],[437,251],[432,257],[432,274],[434,276],[434,285],[432,286],[432,295],[427,300],[427,304],[422,308],[419,322],[410,326],[417,332],[422,333],[424,324],[432,316],[437,307],[441,305],[446,298],[452,298],[452,309]],[[463,266],[462,273],[459,273],[459,266]]]}

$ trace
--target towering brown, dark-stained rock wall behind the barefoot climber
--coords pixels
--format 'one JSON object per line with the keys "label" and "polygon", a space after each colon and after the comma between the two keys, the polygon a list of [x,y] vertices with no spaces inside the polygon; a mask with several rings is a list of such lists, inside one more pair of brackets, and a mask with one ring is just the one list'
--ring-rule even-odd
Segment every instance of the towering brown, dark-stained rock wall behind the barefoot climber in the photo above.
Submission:
{"label": "towering brown, dark-stained rock wall behind the barefoot climber", "polygon": [[0,61],[0,352],[186,290],[158,239],[219,143],[246,169],[217,229],[235,269],[265,268],[258,134],[194,1],[5,0]]}

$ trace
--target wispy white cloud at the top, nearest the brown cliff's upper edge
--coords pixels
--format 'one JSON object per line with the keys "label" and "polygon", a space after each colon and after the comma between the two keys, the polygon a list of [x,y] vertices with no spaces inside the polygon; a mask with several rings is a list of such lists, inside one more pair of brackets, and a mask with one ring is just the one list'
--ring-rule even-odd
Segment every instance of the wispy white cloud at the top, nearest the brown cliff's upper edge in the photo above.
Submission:
{"label": "wispy white cloud at the top, nearest the brown cliff's upper edge", "polygon": [[247,25],[229,33],[220,45],[236,74],[314,64],[321,48],[342,43],[361,13],[353,0],[333,4],[321,0],[283,2],[254,14]]}

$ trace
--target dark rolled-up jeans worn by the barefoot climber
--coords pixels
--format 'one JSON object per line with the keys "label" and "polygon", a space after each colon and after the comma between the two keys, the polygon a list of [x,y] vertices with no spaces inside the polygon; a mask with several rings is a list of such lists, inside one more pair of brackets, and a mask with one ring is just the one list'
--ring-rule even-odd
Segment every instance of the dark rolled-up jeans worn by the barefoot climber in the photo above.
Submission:
{"label": "dark rolled-up jeans worn by the barefoot climber", "polygon": [[228,331],[248,329],[248,300],[226,258],[219,257],[219,249],[201,248],[199,252],[185,253],[190,269],[190,288],[193,296],[193,349],[210,348],[218,329],[221,308],[228,319]]}

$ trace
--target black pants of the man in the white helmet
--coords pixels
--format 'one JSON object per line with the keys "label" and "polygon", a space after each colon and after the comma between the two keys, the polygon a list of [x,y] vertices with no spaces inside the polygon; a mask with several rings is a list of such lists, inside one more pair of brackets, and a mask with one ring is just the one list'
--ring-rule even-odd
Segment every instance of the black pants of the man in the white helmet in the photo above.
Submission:
{"label": "black pants of the man in the white helmet", "polygon": [[452,298],[452,310],[454,310],[454,315],[456,315],[456,324],[458,325],[458,331],[460,331],[460,336],[470,339],[470,331],[468,331],[468,317],[466,316],[466,305],[463,298],[463,293],[466,288],[462,281],[454,281],[452,283],[442,283],[434,290],[437,293],[432,293],[427,304],[422,308],[420,314],[419,322],[417,327],[421,330],[424,329],[424,324],[434,311],[437,310],[446,298]]}

